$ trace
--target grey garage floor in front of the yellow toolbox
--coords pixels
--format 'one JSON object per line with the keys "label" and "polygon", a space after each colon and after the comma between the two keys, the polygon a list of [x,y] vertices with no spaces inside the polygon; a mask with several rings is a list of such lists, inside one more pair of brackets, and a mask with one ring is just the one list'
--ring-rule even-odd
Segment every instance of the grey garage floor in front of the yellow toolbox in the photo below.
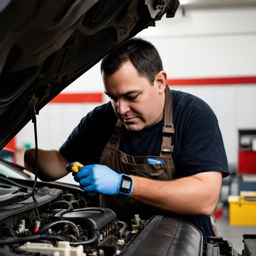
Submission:
{"label": "grey garage floor in front of the yellow toolbox", "polygon": [[223,209],[221,220],[217,221],[219,237],[233,243],[233,248],[242,255],[243,234],[256,234],[256,227],[248,226],[229,226],[228,208]]}

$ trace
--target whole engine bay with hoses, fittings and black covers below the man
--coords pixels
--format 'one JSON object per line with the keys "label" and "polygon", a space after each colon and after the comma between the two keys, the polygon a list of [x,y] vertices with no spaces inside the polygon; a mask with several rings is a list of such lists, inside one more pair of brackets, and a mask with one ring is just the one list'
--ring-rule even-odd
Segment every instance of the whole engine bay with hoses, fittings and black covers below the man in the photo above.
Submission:
{"label": "whole engine bay with hoses, fittings and black covers below the man", "polygon": [[[49,195],[52,189],[43,187],[39,192],[47,191]],[[54,200],[48,197],[39,204],[39,216],[34,208],[8,216],[0,213],[1,255],[239,255],[232,243],[221,237],[204,238],[185,220],[158,215],[141,220],[135,213],[130,223],[125,223],[110,209],[92,207],[92,202],[76,190],[58,188],[57,192]],[[17,204],[26,206],[25,201],[5,207],[13,211]],[[245,252],[253,252],[255,238],[244,235]]]}

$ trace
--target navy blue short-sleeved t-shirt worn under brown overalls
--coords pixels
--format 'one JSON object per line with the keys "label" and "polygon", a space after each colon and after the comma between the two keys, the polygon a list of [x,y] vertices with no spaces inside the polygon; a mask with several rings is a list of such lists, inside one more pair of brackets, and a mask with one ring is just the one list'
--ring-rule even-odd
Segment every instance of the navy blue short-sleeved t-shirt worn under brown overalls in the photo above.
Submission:
{"label": "navy blue short-sleeved t-shirt worn under brown overalls", "polygon": [[[212,109],[194,95],[172,90],[174,150],[172,158],[176,178],[202,172],[220,171],[229,175],[227,156],[217,118]],[[117,116],[111,103],[87,114],[60,147],[60,153],[70,163],[99,164],[109,141]],[[124,128],[119,150],[132,156],[159,156],[164,120],[150,128],[133,132]],[[210,217],[186,216],[187,220],[214,236]]]}

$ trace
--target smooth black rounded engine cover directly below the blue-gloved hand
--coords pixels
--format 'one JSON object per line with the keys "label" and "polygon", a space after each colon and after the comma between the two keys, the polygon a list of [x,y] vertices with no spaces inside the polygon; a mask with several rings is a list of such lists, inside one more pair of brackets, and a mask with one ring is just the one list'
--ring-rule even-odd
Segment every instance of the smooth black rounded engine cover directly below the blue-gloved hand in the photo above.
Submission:
{"label": "smooth black rounded engine cover directly below the blue-gloved hand", "polygon": [[84,208],[68,212],[61,216],[80,225],[82,230],[87,230],[88,235],[94,228],[102,229],[116,218],[115,212],[107,208]]}

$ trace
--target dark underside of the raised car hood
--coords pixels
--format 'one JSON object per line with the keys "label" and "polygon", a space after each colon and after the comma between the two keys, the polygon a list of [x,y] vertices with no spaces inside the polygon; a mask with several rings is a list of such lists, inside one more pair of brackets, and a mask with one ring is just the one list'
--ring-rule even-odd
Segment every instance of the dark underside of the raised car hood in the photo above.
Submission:
{"label": "dark underside of the raised car hood", "polygon": [[[174,17],[178,0],[3,0],[0,3],[0,150],[111,50]],[[85,85],[86,86],[86,85]]]}

